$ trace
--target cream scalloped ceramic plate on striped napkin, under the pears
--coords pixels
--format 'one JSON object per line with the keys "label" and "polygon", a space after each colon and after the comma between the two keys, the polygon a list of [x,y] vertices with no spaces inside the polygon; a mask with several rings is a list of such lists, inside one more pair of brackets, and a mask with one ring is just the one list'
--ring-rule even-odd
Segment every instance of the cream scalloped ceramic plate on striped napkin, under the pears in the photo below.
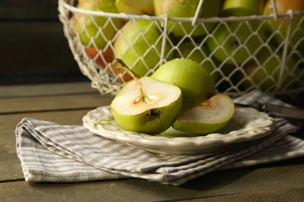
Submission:
{"label": "cream scalloped ceramic plate on striped napkin, under the pears", "polygon": [[[236,108],[231,121],[217,133],[189,137],[191,133],[169,128],[159,135],[147,135],[122,129],[112,116],[110,106],[99,107],[83,117],[91,132],[106,138],[167,155],[203,154],[269,135],[275,128],[272,117],[253,108]],[[172,134],[178,137],[172,137]],[[187,137],[188,136],[188,137]]]}

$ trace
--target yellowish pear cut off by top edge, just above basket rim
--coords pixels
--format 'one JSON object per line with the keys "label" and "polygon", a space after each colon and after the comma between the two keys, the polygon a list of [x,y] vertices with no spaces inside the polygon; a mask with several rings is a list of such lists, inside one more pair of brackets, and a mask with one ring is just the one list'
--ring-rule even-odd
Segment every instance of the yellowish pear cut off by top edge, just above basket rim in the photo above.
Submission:
{"label": "yellowish pear cut off by top edge, just above basket rim", "polygon": [[115,5],[120,13],[131,15],[154,15],[153,0],[116,0]]}

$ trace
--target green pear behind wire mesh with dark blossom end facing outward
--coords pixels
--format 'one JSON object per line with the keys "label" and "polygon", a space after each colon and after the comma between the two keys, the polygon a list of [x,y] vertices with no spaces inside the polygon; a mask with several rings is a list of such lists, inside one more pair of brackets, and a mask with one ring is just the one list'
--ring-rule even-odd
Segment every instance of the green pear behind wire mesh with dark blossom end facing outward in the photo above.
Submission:
{"label": "green pear behind wire mesh with dark blossom end facing outward", "polygon": [[213,36],[208,37],[206,41],[211,55],[220,62],[225,61],[226,64],[235,64],[235,61],[241,65],[248,62],[263,43],[263,33],[251,31],[258,30],[258,25],[258,21],[251,21],[249,24],[227,22],[228,28],[224,24],[219,25]]}

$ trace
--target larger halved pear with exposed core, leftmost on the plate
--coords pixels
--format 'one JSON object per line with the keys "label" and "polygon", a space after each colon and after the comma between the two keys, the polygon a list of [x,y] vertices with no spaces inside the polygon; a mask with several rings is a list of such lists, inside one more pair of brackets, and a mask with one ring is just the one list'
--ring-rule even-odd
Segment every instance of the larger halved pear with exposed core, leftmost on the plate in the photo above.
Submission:
{"label": "larger halved pear with exposed core, leftmost on the plate", "polygon": [[111,103],[112,114],[122,128],[150,135],[167,130],[181,107],[177,86],[149,77],[129,81]]}

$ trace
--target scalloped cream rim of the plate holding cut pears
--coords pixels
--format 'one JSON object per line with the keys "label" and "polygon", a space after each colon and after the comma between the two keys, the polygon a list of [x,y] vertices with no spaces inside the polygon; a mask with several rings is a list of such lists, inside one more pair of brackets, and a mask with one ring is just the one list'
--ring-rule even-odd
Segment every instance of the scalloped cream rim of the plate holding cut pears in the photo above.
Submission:
{"label": "scalloped cream rim of the plate holding cut pears", "polygon": [[[207,136],[194,136],[194,137],[164,137],[164,136],[153,136],[147,135],[143,133],[137,133],[132,131],[111,131],[103,127],[99,123],[95,123],[90,120],[90,116],[92,113],[96,113],[100,109],[109,108],[109,106],[98,107],[94,110],[91,110],[83,117],[83,125],[91,132],[101,135],[103,137],[109,139],[120,140],[124,142],[128,142],[131,144],[148,144],[154,146],[206,146],[206,145],[221,145],[221,144],[231,144],[236,142],[250,141],[253,139],[258,139],[264,136],[269,135],[275,129],[275,121],[272,117],[270,117],[267,113],[259,112],[253,108],[236,108],[236,110],[244,110],[250,109],[262,115],[261,118],[264,118],[265,121],[269,121],[269,125],[264,127],[256,127],[255,129],[247,130],[246,132],[243,130],[243,133],[232,135],[233,132],[238,132],[240,130],[231,131],[228,134],[220,134],[220,133],[211,133]],[[98,112],[97,112],[98,113]],[[258,119],[256,119],[258,120]],[[246,128],[246,127],[245,127]],[[242,128],[244,129],[244,128]],[[257,133],[248,134],[249,131],[253,130],[263,130]],[[127,134],[126,134],[127,133]],[[217,136],[212,136],[212,135]],[[148,141],[148,142],[147,142]]]}

